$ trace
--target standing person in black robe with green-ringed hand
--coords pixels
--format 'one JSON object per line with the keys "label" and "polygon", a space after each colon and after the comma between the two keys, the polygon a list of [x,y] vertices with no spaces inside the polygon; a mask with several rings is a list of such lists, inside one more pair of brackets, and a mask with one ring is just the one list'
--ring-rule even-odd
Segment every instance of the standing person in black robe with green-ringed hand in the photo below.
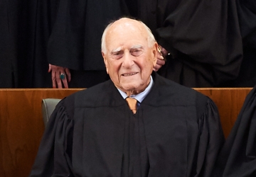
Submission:
{"label": "standing person in black robe with green-ringed hand", "polygon": [[[122,0],[63,0],[48,42],[53,88],[87,88],[107,81],[100,39],[110,20],[128,15]],[[60,79],[60,74],[66,74]]]}

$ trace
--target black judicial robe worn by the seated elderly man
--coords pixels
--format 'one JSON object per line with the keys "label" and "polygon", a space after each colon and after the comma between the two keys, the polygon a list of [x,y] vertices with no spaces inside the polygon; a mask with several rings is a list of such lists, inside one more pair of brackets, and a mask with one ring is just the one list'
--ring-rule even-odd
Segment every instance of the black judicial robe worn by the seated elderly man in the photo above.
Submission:
{"label": "black judicial robe worn by the seated elderly man", "polygon": [[112,81],[60,101],[30,176],[210,176],[223,143],[215,104],[153,78],[135,115]]}

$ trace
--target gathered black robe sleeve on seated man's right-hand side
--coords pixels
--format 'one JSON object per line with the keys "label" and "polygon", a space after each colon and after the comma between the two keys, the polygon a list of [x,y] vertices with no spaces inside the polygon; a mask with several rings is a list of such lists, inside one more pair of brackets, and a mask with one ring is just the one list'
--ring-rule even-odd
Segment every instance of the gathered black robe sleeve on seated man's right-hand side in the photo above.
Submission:
{"label": "gathered black robe sleeve on seated man's right-hand side", "polygon": [[218,108],[210,98],[207,100],[203,114],[200,115],[198,125],[200,134],[195,177],[208,177],[213,171],[216,158],[224,143]]}

